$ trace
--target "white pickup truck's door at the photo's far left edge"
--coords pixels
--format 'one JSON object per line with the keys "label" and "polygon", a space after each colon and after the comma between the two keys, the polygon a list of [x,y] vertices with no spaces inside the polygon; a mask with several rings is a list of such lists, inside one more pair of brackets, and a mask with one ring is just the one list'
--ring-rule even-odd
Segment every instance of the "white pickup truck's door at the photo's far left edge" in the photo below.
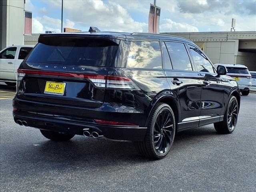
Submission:
{"label": "white pickup truck's door at the photo's far left edge", "polygon": [[14,64],[17,47],[8,47],[0,53],[0,78],[14,80]]}

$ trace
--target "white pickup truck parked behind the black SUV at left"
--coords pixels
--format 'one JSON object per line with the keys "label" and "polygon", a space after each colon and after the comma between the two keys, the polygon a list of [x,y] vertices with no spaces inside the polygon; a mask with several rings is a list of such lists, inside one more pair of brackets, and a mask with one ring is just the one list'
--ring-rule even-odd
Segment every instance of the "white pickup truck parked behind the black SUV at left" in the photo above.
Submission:
{"label": "white pickup truck parked behind the black SUV at left", "polygon": [[0,51],[0,82],[16,85],[17,69],[34,46],[9,46]]}

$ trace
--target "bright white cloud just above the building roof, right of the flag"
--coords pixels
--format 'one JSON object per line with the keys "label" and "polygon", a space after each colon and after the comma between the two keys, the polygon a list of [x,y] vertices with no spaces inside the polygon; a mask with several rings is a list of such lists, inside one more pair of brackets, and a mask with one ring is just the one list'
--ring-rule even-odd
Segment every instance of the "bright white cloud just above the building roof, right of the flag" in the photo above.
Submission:
{"label": "bright white cloud just above the building roof, right of the flag", "polygon": [[198,28],[187,23],[177,23],[170,19],[164,19],[160,25],[160,32],[198,32]]}

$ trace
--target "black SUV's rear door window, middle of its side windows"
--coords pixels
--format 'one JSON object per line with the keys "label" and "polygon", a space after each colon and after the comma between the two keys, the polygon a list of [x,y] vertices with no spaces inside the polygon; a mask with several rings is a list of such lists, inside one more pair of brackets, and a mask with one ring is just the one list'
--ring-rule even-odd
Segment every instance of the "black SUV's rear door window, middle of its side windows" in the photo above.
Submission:
{"label": "black SUV's rear door window, middle of its side windows", "polygon": [[173,69],[192,71],[192,65],[185,45],[176,42],[165,42],[165,44],[171,58]]}

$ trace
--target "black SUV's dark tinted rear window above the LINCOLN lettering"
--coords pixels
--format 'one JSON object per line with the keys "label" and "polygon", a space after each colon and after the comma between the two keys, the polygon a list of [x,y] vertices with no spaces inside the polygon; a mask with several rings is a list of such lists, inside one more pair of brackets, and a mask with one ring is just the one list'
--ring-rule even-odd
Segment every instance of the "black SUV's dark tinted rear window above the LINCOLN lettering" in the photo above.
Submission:
{"label": "black SUV's dark tinted rear window above the LINCOLN lettering", "polygon": [[45,39],[36,45],[26,62],[110,66],[118,47],[115,42],[104,39]]}

